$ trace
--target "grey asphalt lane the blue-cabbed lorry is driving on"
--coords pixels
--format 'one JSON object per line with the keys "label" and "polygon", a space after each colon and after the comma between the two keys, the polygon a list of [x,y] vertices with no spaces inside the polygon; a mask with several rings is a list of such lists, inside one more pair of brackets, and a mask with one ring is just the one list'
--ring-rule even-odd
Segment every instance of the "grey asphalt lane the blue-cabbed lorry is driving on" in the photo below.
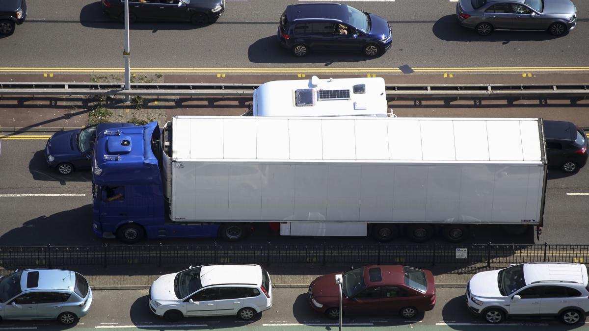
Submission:
{"label": "grey asphalt lane the blue-cabbed lorry is driving on", "polygon": [[[0,196],[0,245],[95,245],[116,244],[114,239],[100,239],[91,230],[91,176],[78,172],[60,176],[45,165],[45,140],[2,140],[0,157],[0,194],[79,194],[84,196]],[[466,243],[551,243],[589,244],[587,214],[589,196],[567,196],[567,193],[589,193],[589,167],[573,176],[549,171],[545,206],[544,233],[535,240],[534,233],[521,236],[505,234],[500,229],[480,226]],[[148,240],[145,243],[212,243],[219,239]],[[349,239],[354,243],[374,243],[370,238]],[[338,237],[277,237],[260,227],[244,243],[341,243]],[[409,243],[399,239],[396,243]],[[439,239],[439,243],[444,243]]]}

